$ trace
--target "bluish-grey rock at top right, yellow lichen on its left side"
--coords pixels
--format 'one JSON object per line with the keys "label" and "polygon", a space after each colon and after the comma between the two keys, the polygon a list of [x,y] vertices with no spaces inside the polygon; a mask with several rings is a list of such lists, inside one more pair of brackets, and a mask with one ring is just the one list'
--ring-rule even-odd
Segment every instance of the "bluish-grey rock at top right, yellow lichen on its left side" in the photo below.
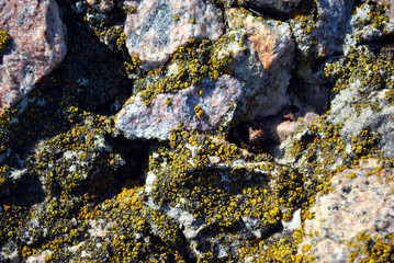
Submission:
{"label": "bluish-grey rock at top right, yellow lichen on its left side", "polygon": [[340,53],[352,7],[352,0],[318,0],[308,16],[295,16],[291,25],[301,53],[315,58]]}

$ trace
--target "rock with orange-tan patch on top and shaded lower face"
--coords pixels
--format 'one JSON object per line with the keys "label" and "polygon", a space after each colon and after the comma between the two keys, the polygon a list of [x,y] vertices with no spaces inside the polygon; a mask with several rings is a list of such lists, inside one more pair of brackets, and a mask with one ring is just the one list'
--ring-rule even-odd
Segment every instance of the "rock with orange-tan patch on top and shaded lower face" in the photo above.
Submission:
{"label": "rock with orange-tan patch on top and shaded lower face", "polygon": [[232,42],[218,54],[233,54],[229,68],[246,87],[239,111],[249,119],[277,114],[288,103],[285,93],[293,67],[289,24],[262,21],[238,9],[226,11],[226,18],[233,28],[227,33]]}

